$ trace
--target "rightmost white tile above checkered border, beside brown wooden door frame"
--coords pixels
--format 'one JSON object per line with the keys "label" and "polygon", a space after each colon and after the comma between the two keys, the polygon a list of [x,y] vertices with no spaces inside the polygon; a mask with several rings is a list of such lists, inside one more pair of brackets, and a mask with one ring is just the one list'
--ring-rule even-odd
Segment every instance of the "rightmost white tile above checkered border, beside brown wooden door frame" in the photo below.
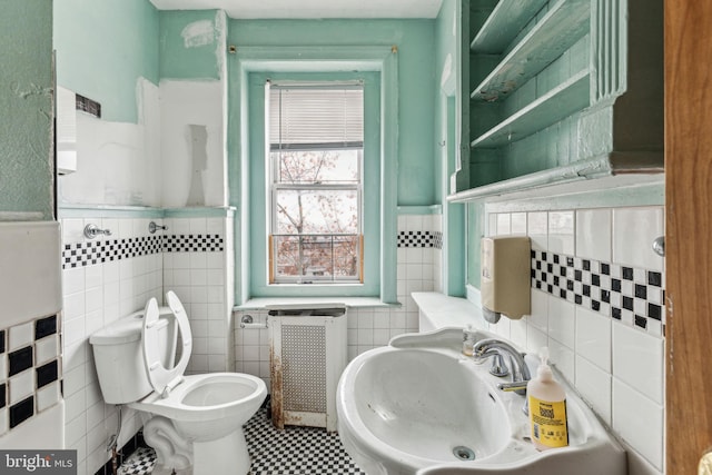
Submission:
{"label": "rightmost white tile above checkered border, beside brown wooden door frame", "polygon": [[613,261],[662,270],[664,258],[653,251],[653,240],[664,235],[662,207],[613,209]]}

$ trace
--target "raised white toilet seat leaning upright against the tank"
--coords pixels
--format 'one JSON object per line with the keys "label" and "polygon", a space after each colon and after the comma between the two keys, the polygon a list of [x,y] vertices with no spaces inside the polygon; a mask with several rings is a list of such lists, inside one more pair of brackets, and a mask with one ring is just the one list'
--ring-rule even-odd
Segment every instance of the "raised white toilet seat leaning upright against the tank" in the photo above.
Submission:
{"label": "raised white toilet seat leaning upright against the tank", "polygon": [[146,304],[146,310],[144,313],[144,329],[141,331],[144,360],[146,362],[148,378],[154,390],[162,397],[167,397],[170,390],[182,380],[182,375],[188,366],[188,359],[190,358],[190,353],[192,350],[190,324],[188,323],[188,316],[182,304],[172,291],[166,294],[166,298],[168,299],[168,306],[176,318],[178,334],[182,342],[180,360],[172,368],[164,366],[162,359],[165,355],[161,349],[160,335],[158,333],[161,327],[165,331],[165,326],[158,325],[160,313],[158,310],[158,303],[156,301],[156,298],[151,298],[148,300],[148,304]]}

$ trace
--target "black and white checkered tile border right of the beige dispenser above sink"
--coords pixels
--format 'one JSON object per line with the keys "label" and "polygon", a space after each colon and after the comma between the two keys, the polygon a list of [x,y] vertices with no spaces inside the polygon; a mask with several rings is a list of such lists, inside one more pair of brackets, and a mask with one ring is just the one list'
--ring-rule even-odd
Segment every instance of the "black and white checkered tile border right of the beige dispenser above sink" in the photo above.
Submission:
{"label": "black and white checkered tile border right of the beige dispenser above sink", "polygon": [[532,288],[664,336],[660,271],[532,250]]}

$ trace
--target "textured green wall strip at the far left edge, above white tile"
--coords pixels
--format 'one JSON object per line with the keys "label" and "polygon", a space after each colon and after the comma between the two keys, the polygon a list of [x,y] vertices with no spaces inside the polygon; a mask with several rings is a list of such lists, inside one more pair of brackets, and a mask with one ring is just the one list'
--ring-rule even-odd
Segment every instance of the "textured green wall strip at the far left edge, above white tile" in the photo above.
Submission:
{"label": "textured green wall strip at the far left edge, above white tile", "polygon": [[51,0],[3,0],[0,30],[0,212],[51,220]]}

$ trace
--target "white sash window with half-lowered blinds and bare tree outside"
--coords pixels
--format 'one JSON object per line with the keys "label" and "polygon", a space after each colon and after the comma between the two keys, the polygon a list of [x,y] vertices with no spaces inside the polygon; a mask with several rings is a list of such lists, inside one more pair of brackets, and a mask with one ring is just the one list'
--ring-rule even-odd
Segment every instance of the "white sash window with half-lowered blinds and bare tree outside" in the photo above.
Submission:
{"label": "white sash window with half-lowered blinds and bare tree outside", "polygon": [[364,88],[267,88],[269,283],[363,283]]}

